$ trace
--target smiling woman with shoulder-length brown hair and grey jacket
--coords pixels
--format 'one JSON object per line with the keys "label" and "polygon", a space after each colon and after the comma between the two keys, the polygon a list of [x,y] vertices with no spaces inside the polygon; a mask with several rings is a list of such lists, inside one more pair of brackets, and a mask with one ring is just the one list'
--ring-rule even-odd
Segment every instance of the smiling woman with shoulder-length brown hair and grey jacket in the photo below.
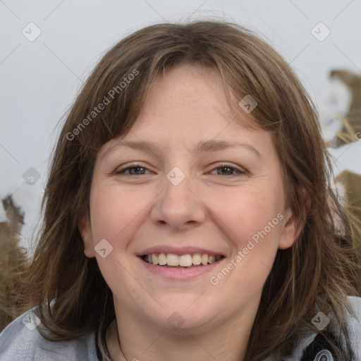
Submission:
{"label": "smiling woman with shoulder-length brown hair and grey jacket", "polygon": [[358,360],[357,225],[329,172],[311,100],[252,32],[129,35],[63,126],[0,360]]}

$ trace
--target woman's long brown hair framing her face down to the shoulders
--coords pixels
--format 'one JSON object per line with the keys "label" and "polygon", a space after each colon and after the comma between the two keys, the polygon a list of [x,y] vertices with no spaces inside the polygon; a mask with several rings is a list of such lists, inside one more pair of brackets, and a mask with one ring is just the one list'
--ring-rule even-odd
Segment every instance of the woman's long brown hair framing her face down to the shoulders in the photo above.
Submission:
{"label": "woman's long brown hair framing her face down to the shoulders", "polygon": [[[250,126],[272,133],[286,202],[300,224],[305,222],[295,244],[277,252],[245,361],[271,354],[282,358],[307,330],[321,332],[311,323],[319,309],[334,312],[346,335],[345,307],[352,312],[346,295],[359,295],[360,259],[352,224],[331,190],[331,163],[312,100],[266,42],[239,25],[212,20],[162,23],[128,35],[99,61],[75,99],[54,152],[42,203],[44,224],[25,286],[30,305],[39,305],[49,329],[44,336],[66,340],[98,330],[100,348],[109,356],[104,335],[115,318],[113,298],[96,259],[83,253],[78,222],[89,212],[99,147],[130,130],[157,75],[183,64],[221,75],[235,118],[243,113],[238,102],[245,94],[256,100]],[[136,73],[126,87],[121,85]],[[93,114],[104,97],[109,104]],[[349,359],[348,350],[336,343],[334,348],[339,360]]]}

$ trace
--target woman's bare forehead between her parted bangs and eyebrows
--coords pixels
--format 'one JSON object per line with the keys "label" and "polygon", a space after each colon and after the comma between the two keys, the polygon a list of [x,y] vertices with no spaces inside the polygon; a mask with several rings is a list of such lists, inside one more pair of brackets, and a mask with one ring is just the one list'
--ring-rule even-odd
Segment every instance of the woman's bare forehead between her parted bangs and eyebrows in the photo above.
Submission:
{"label": "woman's bare forehead between her parted bangs and eyebrows", "polygon": [[133,131],[161,126],[181,135],[185,128],[193,128],[210,137],[230,125],[260,130],[243,110],[232,114],[227,100],[224,81],[213,69],[190,64],[170,68],[157,75],[149,88]]}

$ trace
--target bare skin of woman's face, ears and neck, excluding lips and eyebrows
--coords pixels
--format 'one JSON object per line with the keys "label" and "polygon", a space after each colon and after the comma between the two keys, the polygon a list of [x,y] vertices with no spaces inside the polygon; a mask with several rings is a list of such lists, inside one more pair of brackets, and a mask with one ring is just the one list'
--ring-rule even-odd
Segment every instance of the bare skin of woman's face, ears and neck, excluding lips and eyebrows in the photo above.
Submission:
{"label": "bare skin of woman's face, ears and neck, excluding lips and eyebrows", "polygon": [[[79,229],[85,255],[97,257],[114,295],[117,322],[107,337],[114,360],[125,360],[121,351],[126,360],[243,360],[276,252],[293,245],[300,231],[286,209],[271,135],[241,126],[246,117],[240,110],[240,121],[232,121],[219,75],[181,66],[157,78],[133,129],[99,150],[90,218]],[[120,147],[125,140],[152,140],[159,149]],[[197,154],[201,140],[248,147]],[[136,163],[137,173],[120,173]],[[185,174],[179,185],[166,178],[175,166]],[[213,286],[209,278],[277,214],[282,221]],[[104,258],[94,252],[102,239],[113,247]],[[226,258],[196,279],[169,280],[140,267],[135,256],[154,245],[196,246]],[[180,329],[167,322],[173,312],[184,321]]]}

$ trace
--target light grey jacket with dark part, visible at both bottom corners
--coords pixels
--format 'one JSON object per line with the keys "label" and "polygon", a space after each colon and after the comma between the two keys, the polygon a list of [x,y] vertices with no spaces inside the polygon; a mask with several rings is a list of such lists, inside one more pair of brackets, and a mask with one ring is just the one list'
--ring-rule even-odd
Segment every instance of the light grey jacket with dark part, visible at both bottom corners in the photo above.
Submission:
{"label": "light grey jacket with dark part, visible at both bottom corners", "polygon": [[[357,318],[350,318],[348,331],[353,347],[353,361],[361,361],[361,298],[349,297]],[[326,327],[328,317],[315,315],[315,326]],[[32,310],[22,314],[0,334],[0,361],[102,361],[97,348],[95,334],[83,336],[76,341],[47,341],[37,331],[39,319]],[[280,361],[267,357],[264,361]],[[334,361],[331,348],[322,337],[311,333],[285,361]]]}

